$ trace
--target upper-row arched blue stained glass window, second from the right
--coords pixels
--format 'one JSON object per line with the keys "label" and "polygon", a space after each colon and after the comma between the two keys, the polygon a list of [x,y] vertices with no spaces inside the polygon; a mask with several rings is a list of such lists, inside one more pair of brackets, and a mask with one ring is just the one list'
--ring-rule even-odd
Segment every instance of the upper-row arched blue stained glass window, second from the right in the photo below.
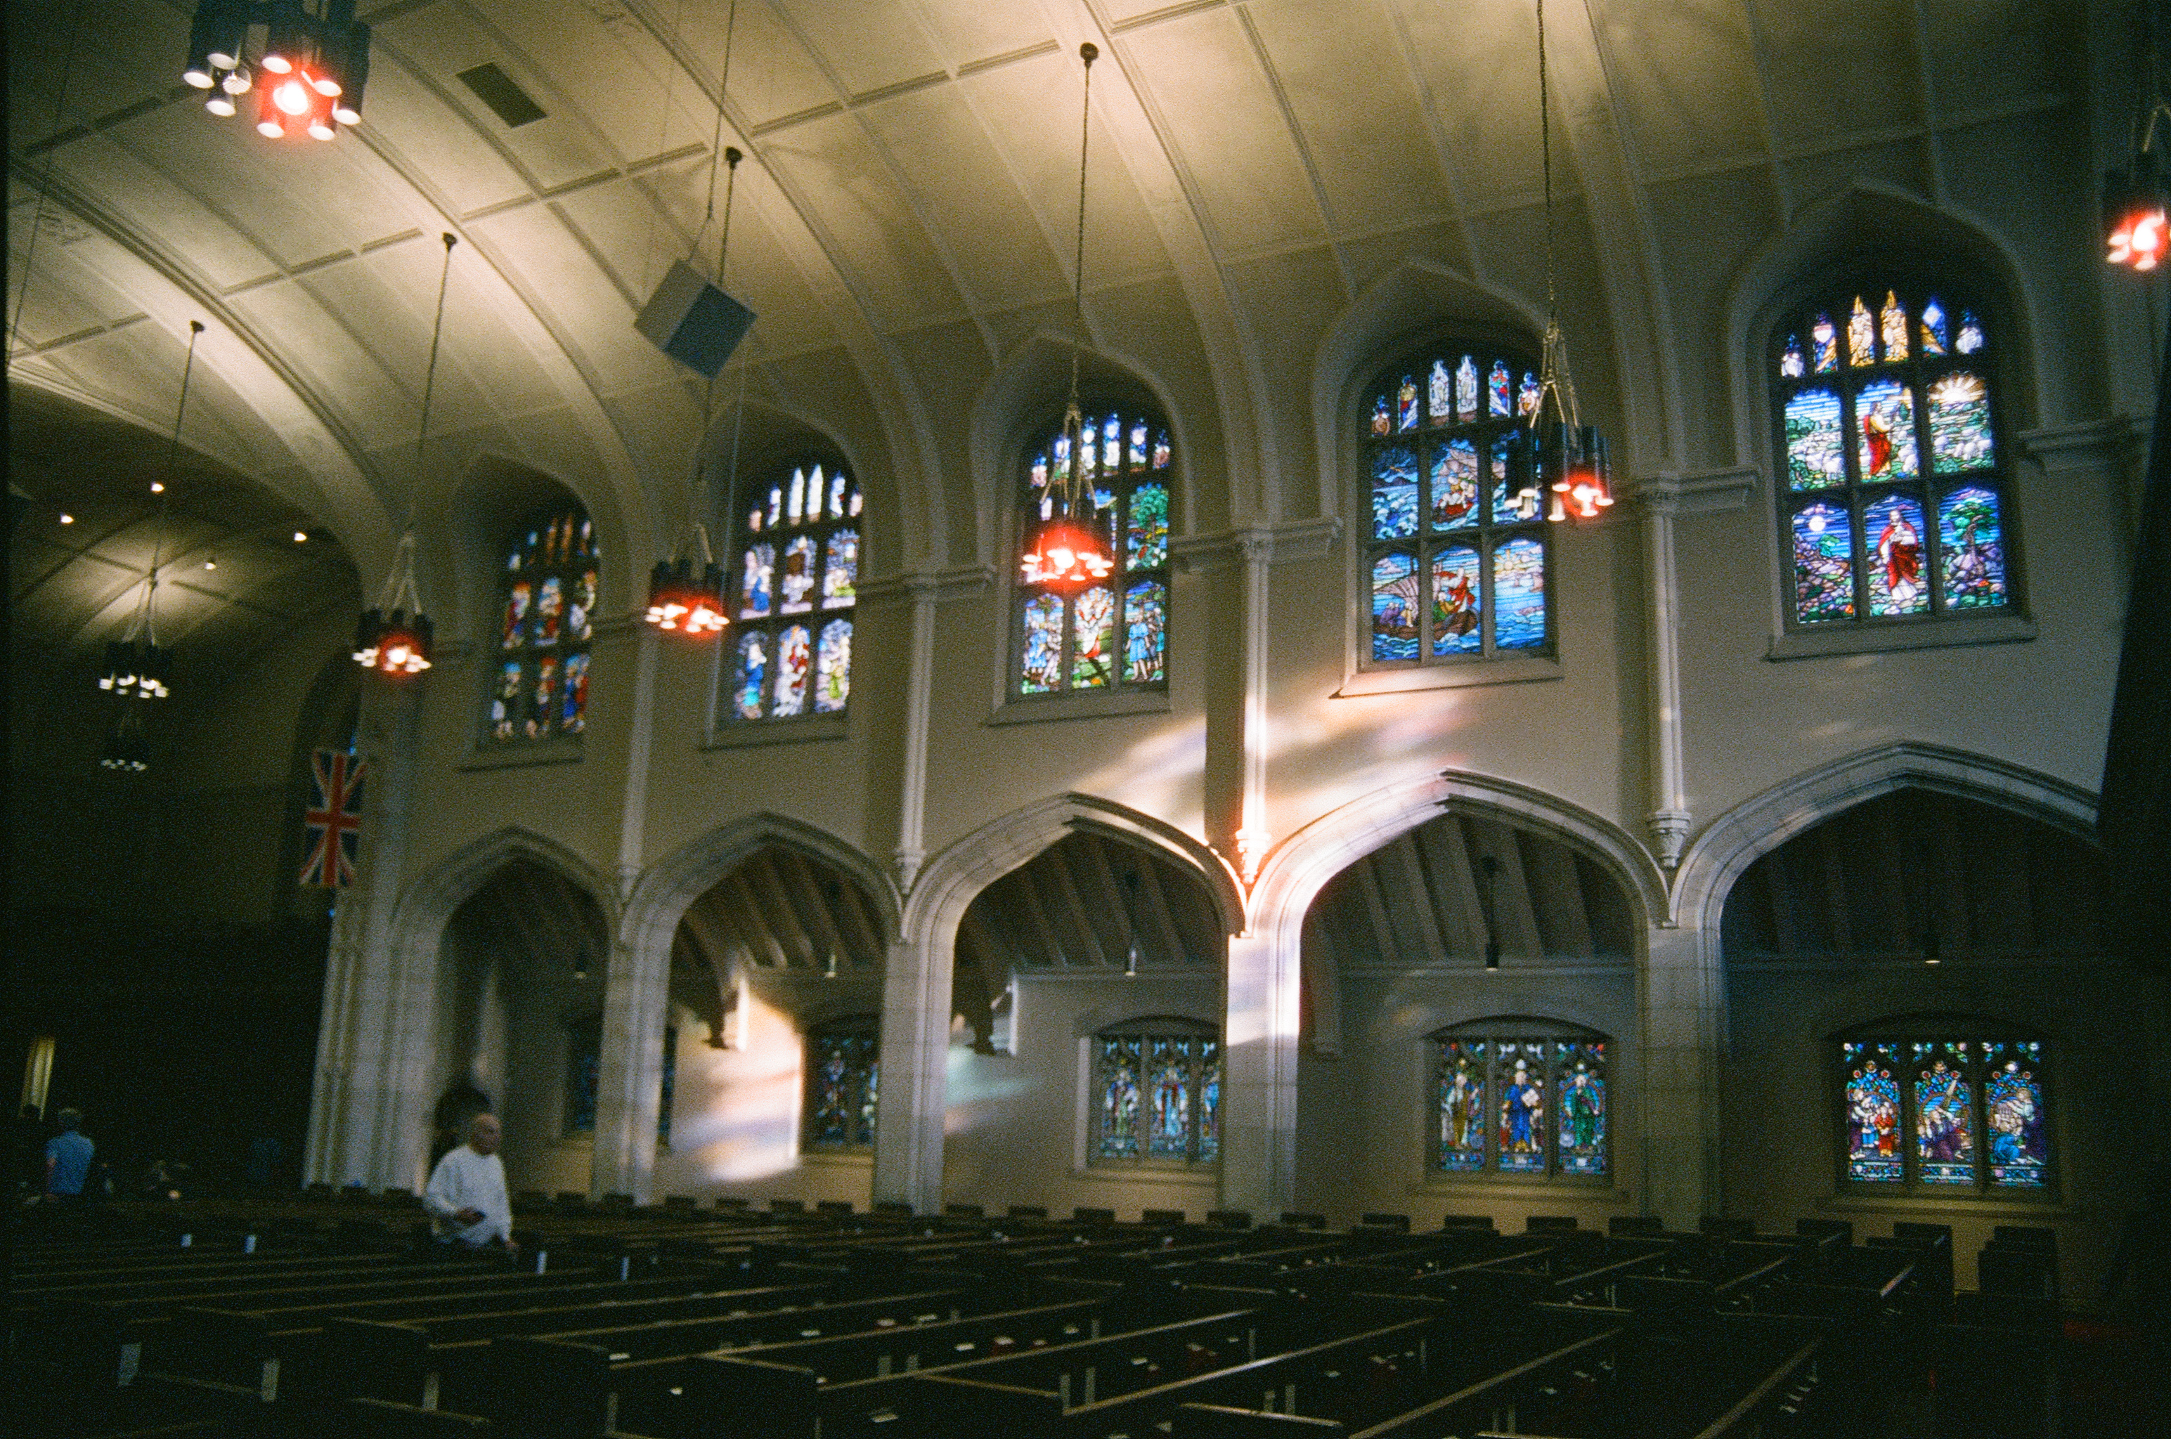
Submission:
{"label": "upper-row arched blue stained glass window, second from the right", "polygon": [[1363,436],[1368,668],[1552,649],[1546,517],[1509,475],[1537,406],[1535,369],[1526,356],[1452,347],[1381,375]]}

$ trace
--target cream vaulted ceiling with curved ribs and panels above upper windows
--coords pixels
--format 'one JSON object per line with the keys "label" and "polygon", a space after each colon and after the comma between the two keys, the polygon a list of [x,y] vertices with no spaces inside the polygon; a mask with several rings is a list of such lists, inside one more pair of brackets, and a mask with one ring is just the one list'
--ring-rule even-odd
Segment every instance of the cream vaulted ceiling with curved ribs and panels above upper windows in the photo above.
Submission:
{"label": "cream vaulted ceiling with curved ribs and panels above upper windows", "polygon": [[[365,0],[363,124],[332,143],[206,115],[178,78],[189,9],[9,7],[11,391],[158,434],[204,319],[191,447],[332,530],[373,588],[417,480],[449,230],[426,506],[491,454],[571,484],[619,553],[666,545],[701,395],[632,321],[675,258],[714,265],[732,0]],[[1863,174],[1943,200],[1991,169],[1986,132],[2084,130],[2093,9],[1554,0],[1567,302],[1633,443],[1685,445],[1698,375],[1661,336],[1711,319],[1735,263],[1667,237],[1782,230]],[[1305,454],[1290,315],[1318,334],[1411,254],[1544,295],[1531,0],[738,0],[721,135],[749,156],[725,276],[760,315],[745,386],[894,495],[884,564],[973,558],[957,417],[1066,328],[1086,39],[1086,323],[1203,375],[1192,443],[1237,480],[1201,512],[1285,504],[1257,475]],[[543,117],[493,113],[458,78],[484,63]]]}

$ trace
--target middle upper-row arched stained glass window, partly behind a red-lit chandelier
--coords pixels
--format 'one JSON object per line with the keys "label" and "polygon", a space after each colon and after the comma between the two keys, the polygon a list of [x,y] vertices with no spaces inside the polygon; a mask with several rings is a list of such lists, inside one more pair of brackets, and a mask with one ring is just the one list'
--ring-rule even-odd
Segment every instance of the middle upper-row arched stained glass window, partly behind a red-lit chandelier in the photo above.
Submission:
{"label": "middle upper-row arched stained glass window, partly behind a red-lit chandelier", "polygon": [[[1168,688],[1168,525],[1175,467],[1168,423],[1138,408],[1090,408],[1079,464],[1094,493],[1092,523],[1109,545],[1107,580],[1077,593],[1016,590],[1012,695],[1107,695]],[[1057,425],[1025,451],[1020,536],[1044,517],[1051,484],[1070,473]]]}

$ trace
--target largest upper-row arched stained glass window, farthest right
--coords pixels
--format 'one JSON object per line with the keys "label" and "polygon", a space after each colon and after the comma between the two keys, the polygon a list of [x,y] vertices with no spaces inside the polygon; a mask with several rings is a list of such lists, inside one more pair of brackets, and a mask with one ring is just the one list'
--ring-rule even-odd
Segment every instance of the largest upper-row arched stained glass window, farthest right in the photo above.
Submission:
{"label": "largest upper-row arched stained glass window, farthest right", "polygon": [[1791,629],[1928,623],[2013,603],[1986,352],[1973,308],[1891,284],[1828,295],[1778,328]]}

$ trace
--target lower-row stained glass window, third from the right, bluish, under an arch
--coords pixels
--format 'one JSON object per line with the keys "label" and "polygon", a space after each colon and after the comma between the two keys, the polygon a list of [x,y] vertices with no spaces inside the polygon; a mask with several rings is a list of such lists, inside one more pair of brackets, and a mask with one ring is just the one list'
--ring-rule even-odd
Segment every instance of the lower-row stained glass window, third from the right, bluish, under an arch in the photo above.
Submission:
{"label": "lower-row stained glass window, third from the right, bluish, under an arch", "polygon": [[1220,1159],[1220,1031],[1153,1018],[1094,1035],[1094,1163]]}

